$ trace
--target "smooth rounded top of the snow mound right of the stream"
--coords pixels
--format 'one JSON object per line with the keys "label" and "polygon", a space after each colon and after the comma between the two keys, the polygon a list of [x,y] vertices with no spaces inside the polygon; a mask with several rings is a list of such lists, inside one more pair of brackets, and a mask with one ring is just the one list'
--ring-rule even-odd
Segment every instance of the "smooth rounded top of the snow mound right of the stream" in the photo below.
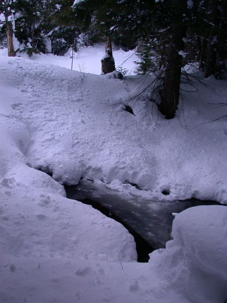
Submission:
{"label": "smooth rounded top of the snow mound right of the stream", "polygon": [[227,280],[227,208],[199,206],[177,216],[173,236],[199,269]]}

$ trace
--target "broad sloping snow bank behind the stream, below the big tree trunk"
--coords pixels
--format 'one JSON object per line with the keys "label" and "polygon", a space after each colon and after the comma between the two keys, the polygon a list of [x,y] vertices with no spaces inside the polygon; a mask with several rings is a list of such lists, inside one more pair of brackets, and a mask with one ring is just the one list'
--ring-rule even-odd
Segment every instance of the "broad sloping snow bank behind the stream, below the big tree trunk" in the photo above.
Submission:
{"label": "broad sloping snow bank behind the stream, below the big tree trunk", "polygon": [[136,183],[158,199],[226,203],[227,123],[207,123],[223,115],[218,104],[227,95],[226,81],[205,81],[214,93],[196,83],[198,92],[183,92],[179,116],[165,120],[148,93],[129,100],[150,77],[109,79],[22,58],[1,62],[8,78],[2,97],[12,99],[10,114],[30,132],[25,155],[33,167],[62,183],[82,176],[117,188],[118,181]]}

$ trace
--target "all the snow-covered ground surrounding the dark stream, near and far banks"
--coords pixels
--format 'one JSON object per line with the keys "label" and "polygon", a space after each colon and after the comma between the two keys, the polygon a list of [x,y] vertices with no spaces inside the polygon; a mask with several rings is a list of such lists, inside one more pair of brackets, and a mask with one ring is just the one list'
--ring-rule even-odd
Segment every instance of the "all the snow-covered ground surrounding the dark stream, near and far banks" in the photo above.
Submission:
{"label": "all the snow-covered ground surrounding the dark stream, near and far banks", "polygon": [[[130,100],[151,77],[56,66],[69,67],[65,58],[0,57],[0,301],[223,303],[225,206],[177,215],[174,240],[140,264],[125,228],[67,199],[61,184],[85,177],[130,191],[131,182],[146,197],[227,204],[227,123],[207,123],[224,114],[226,81],[197,83],[198,92],[183,92],[178,116],[165,120],[148,93]],[[100,59],[89,58],[85,72],[99,74]]]}

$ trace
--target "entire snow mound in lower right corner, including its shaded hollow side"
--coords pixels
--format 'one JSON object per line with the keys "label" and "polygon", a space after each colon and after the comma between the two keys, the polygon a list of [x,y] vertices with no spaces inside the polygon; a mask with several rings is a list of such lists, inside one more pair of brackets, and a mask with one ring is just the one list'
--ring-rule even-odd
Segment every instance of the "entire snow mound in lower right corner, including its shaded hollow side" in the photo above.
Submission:
{"label": "entire snow mound in lower right corner, including its shaded hollow side", "polygon": [[223,303],[227,298],[227,208],[198,206],[177,215],[174,239],[154,251],[158,275],[192,302]]}

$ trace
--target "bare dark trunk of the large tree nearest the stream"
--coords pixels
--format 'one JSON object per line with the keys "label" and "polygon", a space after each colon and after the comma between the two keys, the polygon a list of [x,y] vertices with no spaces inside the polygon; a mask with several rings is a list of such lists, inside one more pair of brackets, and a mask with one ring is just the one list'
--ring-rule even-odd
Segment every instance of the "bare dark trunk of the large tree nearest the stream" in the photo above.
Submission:
{"label": "bare dark trunk of the large tree nearest the stream", "polygon": [[180,95],[182,56],[180,51],[184,50],[184,41],[186,35],[186,25],[182,20],[182,15],[186,11],[186,1],[176,0],[176,20],[173,25],[169,52],[166,58],[166,68],[163,79],[163,91],[161,93],[160,112],[166,119],[175,117]]}

